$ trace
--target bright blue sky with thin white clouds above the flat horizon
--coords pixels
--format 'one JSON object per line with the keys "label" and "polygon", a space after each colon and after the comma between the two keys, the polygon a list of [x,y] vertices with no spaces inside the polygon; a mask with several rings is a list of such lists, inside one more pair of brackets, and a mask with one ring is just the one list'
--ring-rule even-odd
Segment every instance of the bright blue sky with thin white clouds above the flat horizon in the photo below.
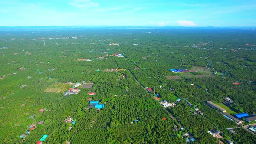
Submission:
{"label": "bright blue sky with thin white clouds above the flat horizon", "polygon": [[0,0],[0,26],[250,26],[256,0]]}

